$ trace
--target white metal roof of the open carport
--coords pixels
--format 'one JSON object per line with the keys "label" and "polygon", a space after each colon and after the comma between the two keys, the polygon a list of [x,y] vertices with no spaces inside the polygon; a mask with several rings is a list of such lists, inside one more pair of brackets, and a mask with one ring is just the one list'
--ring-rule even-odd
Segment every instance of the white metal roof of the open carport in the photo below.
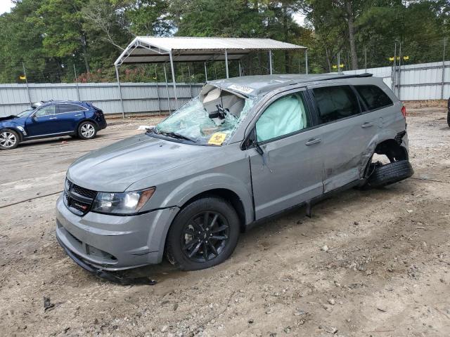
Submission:
{"label": "white metal roof of the open carport", "polygon": [[169,62],[172,52],[174,62],[205,62],[240,60],[251,51],[290,51],[307,49],[273,39],[246,39],[228,37],[136,37],[114,62],[153,63]]}

